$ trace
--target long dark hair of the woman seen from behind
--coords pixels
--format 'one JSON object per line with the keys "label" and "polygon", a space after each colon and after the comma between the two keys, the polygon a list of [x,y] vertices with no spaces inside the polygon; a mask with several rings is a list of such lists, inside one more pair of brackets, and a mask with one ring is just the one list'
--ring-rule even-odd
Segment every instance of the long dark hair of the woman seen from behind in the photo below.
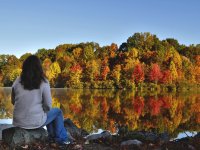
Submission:
{"label": "long dark hair of the woman seen from behind", "polygon": [[37,56],[31,55],[23,63],[21,84],[24,89],[33,90],[38,89],[42,81],[46,82],[46,77],[41,61]]}

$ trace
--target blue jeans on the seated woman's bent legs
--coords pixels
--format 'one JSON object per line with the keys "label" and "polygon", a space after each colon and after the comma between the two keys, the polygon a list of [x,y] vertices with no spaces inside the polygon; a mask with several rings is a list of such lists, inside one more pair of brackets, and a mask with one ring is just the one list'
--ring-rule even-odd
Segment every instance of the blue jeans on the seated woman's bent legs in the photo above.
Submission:
{"label": "blue jeans on the seated woman's bent legs", "polygon": [[52,108],[47,113],[47,120],[43,126],[47,127],[48,136],[50,139],[54,139],[56,142],[59,143],[68,140],[61,109]]}

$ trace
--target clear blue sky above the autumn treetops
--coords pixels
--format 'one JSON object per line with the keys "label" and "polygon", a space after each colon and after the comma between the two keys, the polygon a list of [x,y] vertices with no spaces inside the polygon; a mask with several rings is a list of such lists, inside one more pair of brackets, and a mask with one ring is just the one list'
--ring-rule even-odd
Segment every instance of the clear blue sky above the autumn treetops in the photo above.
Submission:
{"label": "clear blue sky above the autumn treetops", "polygon": [[135,32],[200,43],[199,0],[0,0],[0,54],[94,41],[120,45]]}

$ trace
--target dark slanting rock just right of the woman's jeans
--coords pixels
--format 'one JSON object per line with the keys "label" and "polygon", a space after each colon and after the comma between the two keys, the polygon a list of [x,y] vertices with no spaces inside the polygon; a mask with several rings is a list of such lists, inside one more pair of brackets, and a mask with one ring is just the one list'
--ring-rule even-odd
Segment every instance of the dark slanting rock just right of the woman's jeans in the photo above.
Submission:
{"label": "dark slanting rock just right of the woman's jeans", "polygon": [[83,139],[89,134],[84,129],[78,128],[69,118],[64,120],[64,126],[75,139]]}

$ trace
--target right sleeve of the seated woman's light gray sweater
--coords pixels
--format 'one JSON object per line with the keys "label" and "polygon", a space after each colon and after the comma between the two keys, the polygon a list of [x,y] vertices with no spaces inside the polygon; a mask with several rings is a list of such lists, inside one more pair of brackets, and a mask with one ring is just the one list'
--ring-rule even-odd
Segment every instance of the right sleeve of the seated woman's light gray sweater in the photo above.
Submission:
{"label": "right sleeve of the seated woman's light gray sweater", "polygon": [[52,107],[51,89],[49,83],[45,83],[42,92],[43,109],[45,112]]}

